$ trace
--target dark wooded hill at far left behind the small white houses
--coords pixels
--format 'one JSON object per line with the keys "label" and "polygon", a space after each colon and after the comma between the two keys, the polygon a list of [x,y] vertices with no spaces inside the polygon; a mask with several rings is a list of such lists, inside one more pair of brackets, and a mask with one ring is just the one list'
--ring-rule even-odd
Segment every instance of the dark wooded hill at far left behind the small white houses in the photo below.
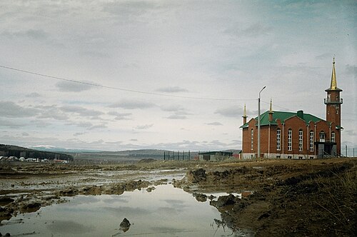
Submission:
{"label": "dark wooded hill at far left behind the small white houses", "polygon": [[17,158],[40,158],[48,160],[66,160],[72,161],[73,156],[66,153],[56,153],[48,151],[38,151],[21,146],[0,144],[0,156],[16,156]]}

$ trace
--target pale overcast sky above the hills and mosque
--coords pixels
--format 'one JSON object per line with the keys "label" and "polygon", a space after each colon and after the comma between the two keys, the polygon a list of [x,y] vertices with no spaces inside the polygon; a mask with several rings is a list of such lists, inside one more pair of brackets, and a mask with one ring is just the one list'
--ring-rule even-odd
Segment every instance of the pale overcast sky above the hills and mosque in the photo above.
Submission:
{"label": "pale overcast sky above the hills and mosque", "polygon": [[272,99],[326,119],[336,56],[341,146],[357,148],[356,12],[353,0],[2,0],[0,66],[47,76],[0,67],[0,143],[239,149],[263,86],[262,113]]}

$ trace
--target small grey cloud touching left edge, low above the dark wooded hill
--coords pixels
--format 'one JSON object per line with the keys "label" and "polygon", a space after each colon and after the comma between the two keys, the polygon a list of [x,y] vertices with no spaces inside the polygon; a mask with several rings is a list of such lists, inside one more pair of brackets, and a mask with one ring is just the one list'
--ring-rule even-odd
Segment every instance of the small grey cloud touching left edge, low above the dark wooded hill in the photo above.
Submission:
{"label": "small grey cloud touching left edge, low above the dark wooded hill", "polygon": [[0,116],[6,118],[25,118],[36,116],[37,109],[19,106],[11,101],[0,101]]}

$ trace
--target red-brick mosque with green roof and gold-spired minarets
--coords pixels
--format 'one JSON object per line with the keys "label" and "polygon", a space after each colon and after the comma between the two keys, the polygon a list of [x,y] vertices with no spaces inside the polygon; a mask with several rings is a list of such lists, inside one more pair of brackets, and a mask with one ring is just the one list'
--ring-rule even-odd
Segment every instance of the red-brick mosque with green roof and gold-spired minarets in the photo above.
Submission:
{"label": "red-brick mosque with green roof and gold-spired minarets", "polygon": [[[341,154],[342,91],[337,87],[333,58],[331,86],[327,97],[326,120],[303,111],[269,111],[261,114],[261,157],[264,158],[323,158]],[[256,158],[258,154],[258,118],[247,122],[244,106],[242,158]]]}

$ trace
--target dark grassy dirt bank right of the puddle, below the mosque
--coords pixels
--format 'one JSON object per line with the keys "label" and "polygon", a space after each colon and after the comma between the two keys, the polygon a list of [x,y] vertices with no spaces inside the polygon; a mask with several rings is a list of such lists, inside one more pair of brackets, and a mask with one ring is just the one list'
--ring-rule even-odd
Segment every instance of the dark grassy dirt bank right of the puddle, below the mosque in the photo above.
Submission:
{"label": "dark grassy dirt bank right of the puddle, below the mosque", "polygon": [[242,193],[211,205],[228,227],[256,236],[357,235],[356,159],[222,164],[188,171],[175,186]]}

